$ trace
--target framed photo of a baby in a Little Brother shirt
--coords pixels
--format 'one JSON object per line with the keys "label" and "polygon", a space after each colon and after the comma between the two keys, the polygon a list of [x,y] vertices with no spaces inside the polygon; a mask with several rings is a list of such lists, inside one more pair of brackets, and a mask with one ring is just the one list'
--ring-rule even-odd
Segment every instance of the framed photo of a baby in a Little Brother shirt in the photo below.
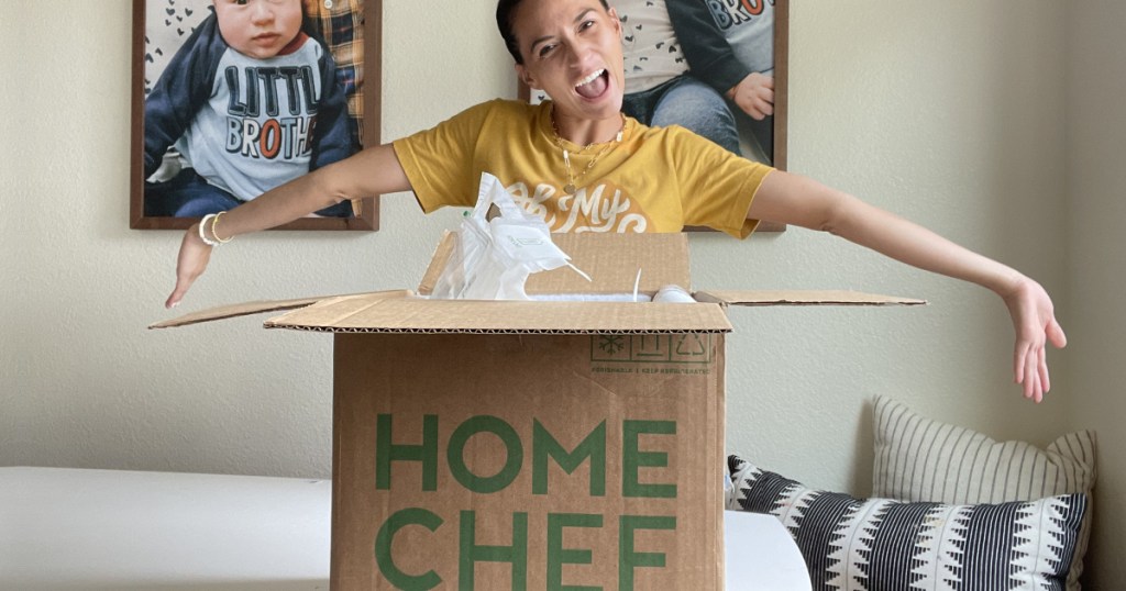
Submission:
{"label": "framed photo of a baby in a Little Brother shirt", "polygon": [[[379,143],[382,0],[133,0],[129,227],[182,230]],[[378,230],[378,196],[282,230]]]}

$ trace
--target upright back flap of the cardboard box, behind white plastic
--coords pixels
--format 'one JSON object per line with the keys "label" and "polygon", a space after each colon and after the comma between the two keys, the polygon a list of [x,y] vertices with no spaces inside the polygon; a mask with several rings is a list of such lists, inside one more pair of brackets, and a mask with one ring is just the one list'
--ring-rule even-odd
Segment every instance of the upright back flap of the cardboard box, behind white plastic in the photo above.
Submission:
{"label": "upright back flap of the cardboard box, behind white plastic", "polygon": [[[430,260],[418,293],[430,295],[441,270],[450,260],[458,240],[447,232]],[[618,234],[580,233],[552,234],[552,241],[571,257],[571,263],[590,276],[588,281],[573,269],[561,267],[531,274],[525,284],[529,295],[540,294],[629,294],[637,290],[654,294],[665,285],[690,289],[688,271],[688,236],[682,233]]]}

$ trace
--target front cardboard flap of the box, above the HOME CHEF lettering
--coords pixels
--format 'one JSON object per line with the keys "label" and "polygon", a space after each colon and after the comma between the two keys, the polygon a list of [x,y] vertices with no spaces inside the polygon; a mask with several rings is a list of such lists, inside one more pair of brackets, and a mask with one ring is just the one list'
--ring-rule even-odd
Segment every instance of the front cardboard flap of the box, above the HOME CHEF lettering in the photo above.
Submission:
{"label": "front cardboard flap of the box, above the HOME CHEF lettering", "polygon": [[484,302],[377,297],[325,299],[266,322],[325,332],[470,334],[655,334],[730,332],[715,304],[633,302]]}

